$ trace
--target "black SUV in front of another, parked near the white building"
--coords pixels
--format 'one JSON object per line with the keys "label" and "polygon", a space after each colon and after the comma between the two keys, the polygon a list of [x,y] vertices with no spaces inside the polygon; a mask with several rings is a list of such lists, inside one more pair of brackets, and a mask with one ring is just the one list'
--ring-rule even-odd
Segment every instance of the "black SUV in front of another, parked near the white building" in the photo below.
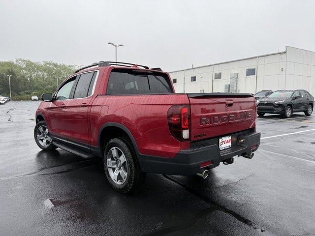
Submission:
{"label": "black SUV in front of another, parked near the white building", "polygon": [[304,112],[306,116],[311,116],[313,107],[314,97],[306,90],[278,90],[259,100],[257,115],[262,117],[272,113],[288,118],[293,112]]}

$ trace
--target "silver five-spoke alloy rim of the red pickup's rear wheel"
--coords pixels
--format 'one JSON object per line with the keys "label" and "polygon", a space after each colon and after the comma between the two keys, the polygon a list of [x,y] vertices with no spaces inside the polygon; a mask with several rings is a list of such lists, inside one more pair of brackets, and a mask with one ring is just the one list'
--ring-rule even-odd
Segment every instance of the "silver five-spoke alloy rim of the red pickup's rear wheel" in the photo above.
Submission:
{"label": "silver five-spoke alloy rim of the red pickup's rear wheel", "polygon": [[124,152],[117,147],[113,147],[107,154],[107,169],[111,179],[116,184],[123,184],[127,179],[127,161]]}

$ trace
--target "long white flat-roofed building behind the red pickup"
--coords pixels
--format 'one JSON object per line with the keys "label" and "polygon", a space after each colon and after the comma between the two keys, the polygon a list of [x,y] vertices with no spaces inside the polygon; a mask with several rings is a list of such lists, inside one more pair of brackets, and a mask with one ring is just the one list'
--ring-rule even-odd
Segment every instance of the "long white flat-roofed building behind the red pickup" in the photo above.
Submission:
{"label": "long white flat-roofed building behind the red pickup", "polygon": [[176,92],[250,92],[305,89],[315,95],[315,52],[284,52],[231,60],[169,73]]}

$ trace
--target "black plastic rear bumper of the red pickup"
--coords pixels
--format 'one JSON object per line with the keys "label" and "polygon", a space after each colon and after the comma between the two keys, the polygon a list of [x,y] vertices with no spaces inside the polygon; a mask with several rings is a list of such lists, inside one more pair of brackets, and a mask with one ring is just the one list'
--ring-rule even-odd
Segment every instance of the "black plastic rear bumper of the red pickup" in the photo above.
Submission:
{"label": "black plastic rear bumper of the red pickup", "polygon": [[[240,140],[244,141],[240,143]],[[195,146],[179,151],[174,158],[141,156],[139,162],[142,171],[146,173],[190,176],[200,173],[203,169],[215,168],[221,161],[230,157],[250,155],[259,145],[260,133],[252,132],[239,135],[237,145],[225,150],[220,151],[218,145]],[[211,161],[211,165],[200,168],[200,164],[207,161]]]}

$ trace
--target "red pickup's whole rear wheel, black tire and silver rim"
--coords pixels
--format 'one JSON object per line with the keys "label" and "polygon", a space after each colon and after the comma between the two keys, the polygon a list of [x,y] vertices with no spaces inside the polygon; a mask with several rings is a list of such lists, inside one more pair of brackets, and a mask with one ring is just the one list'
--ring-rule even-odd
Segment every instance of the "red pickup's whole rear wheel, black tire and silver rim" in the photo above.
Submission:
{"label": "red pickup's whole rear wheel, black tire and silver rim", "polygon": [[111,139],[104,151],[104,169],[109,184],[120,193],[138,188],[146,177],[125,138]]}

